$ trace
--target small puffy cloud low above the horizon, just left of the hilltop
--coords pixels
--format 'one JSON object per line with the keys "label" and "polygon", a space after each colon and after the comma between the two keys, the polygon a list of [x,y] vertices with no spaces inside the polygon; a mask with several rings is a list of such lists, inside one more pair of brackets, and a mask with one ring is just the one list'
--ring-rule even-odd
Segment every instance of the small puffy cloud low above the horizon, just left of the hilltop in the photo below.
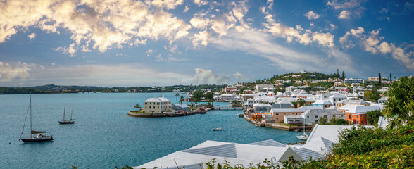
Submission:
{"label": "small puffy cloud low above the horizon, just left of the hilltop", "polygon": [[196,75],[194,75],[194,82],[196,84],[230,84],[230,76],[215,75],[211,70],[196,68]]}

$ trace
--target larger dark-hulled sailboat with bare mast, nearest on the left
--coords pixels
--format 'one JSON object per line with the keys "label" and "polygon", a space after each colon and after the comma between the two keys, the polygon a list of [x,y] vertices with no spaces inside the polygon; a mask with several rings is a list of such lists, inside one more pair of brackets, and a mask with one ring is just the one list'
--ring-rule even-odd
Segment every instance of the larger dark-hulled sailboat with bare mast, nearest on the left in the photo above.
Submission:
{"label": "larger dark-hulled sailboat with bare mast, nearest on the left", "polygon": [[[25,125],[26,125],[27,115],[29,114],[29,111],[30,111],[30,137],[26,139],[22,139],[22,135],[23,135],[23,132],[25,131]],[[47,141],[54,140],[52,136],[46,135],[44,133],[46,132],[32,130],[32,95],[30,94],[29,110],[27,110],[25,123],[23,124],[23,130],[22,130],[22,134],[20,134],[19,141],[22,140],[23,142],[47,142]],[[37,135],[33,137],[33,134],[37,134]]]}

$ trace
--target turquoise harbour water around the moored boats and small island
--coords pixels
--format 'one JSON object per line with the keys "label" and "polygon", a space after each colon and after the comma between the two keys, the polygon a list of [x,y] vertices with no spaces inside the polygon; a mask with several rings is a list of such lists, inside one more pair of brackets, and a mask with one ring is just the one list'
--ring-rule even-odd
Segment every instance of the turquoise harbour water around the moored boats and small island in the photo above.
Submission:
{"label": "turquoise harbour water around the moored boats and small island", "polygon": [[[251,143],[265,139],[300,142],[296,132],[256,127],[235,116],[242,111],[209,111],[175,118],[132,118],[134,104],[174,93],[32,94],[33,130],[53,134],[53,142],[18,141],[29,94],[0,95],[0,168],[115,168],[142,165],[206,140]],[[179,96],[180,98],[180,96]],[[73,110],[74,125],[59,125]],[[226,106],[227,103],[214,103]],[[27,123],[28,124],[28,123]],[[27,137],[30,127],[25,130]],[[213,132],[215,127],[223,131]],[[9,144],[9,142],[11,144]]]}

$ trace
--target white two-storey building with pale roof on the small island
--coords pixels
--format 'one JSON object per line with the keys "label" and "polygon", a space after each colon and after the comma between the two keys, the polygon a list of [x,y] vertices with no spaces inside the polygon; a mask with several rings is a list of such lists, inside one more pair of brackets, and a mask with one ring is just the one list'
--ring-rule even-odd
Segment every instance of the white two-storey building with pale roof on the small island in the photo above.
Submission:
{"label": "white two-storey building with pale roof on the small island", "polygon": [[164,111],[171,109],[172,103],[170,100],[162,97],[149,98],[144,101],[144,111],[145,113],[163,113]]}

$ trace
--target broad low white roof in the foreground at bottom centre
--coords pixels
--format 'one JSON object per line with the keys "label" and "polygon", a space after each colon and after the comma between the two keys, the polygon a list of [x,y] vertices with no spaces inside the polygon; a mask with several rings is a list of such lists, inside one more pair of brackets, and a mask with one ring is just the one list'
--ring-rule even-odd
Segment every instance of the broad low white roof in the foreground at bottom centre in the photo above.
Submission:
{"label": "broad low white roof in the foreground at bottom centre", "polygon": [[245,167],[249,164],[260,163],[265,159],[273,161],[275,165],[280,165],[280,161],[286,161],[290,156],[294,156],[299,161],[308,159],[310,156],[313,156],[313,159],[322,157],[321,154],[310,149],[291,148],[272,139],[251,144],[208,140],[135,168],[177,168],[177,166],[183,168],[184,165],[185,168],[200,168],[200,164],[207,163],[212,158],[216,158],[215,161],[218,163],[224,163],[227,160],[230,165],[242,164]]}

